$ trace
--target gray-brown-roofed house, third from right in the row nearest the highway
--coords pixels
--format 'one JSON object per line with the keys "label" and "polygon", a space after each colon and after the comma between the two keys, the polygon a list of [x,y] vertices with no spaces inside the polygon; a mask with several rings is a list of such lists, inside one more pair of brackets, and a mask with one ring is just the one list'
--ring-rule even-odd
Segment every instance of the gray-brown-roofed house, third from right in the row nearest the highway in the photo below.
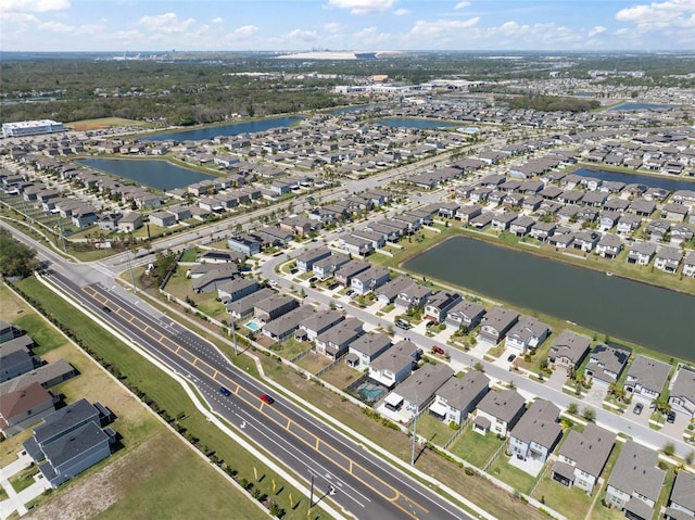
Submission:
{"label": "gray-brown-roofed house, third from right in the row nearest the highway", "polygon": [[557,453],[553,480],[568,487],[576,485],[591,495],[615,442],[615,433],[593,422],[587,422],[583,432],[571,430]]}

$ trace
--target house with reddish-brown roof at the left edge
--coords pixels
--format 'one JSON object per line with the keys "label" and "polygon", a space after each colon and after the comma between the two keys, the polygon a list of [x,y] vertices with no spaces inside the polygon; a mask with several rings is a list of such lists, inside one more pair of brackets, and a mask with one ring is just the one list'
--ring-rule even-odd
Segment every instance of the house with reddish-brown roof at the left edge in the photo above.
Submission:
{"label": "house with reddish-brown roof at the left edge", "polygon": [[55,410],[60,401],[39,383],[9,392],[0,399],[0,431],[5,437],[33,427]]}

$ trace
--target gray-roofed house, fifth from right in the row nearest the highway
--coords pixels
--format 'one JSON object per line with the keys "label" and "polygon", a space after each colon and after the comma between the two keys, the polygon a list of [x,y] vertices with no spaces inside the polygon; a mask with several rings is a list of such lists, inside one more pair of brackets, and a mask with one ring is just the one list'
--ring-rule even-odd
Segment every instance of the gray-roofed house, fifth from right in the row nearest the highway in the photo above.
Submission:
{"label": "gray-roofed house, fifth from right in the row nearest the highway", "polygon": [[525,411],[526,401],[516,390],[488,392],[478,403],[473,431],[482,435],[491,431],[498,436],[506,436]]}

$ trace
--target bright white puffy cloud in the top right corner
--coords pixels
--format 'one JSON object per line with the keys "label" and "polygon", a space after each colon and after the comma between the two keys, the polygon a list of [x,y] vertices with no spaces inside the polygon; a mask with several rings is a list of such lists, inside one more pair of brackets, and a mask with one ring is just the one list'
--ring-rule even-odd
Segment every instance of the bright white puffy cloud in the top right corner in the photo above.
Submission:
{"label": "bright white puffy cloud in the top right corner", "polygon": [[618,11],[616,20],[633,23],[641,31],[695,30],[695,0],[666,0],[634,5]]}

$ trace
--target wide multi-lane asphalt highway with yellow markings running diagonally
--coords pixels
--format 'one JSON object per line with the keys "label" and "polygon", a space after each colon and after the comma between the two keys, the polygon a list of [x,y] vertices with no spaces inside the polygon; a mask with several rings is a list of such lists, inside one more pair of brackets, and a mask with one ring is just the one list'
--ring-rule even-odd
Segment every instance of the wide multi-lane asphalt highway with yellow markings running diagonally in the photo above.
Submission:
{"label": "wide multi-lane asphalt highway with yellow markings running diagonally", "polygon": [[[273,405],[264,403],[260,395],[269,393],[267,388],[207,342],[109,283],[106,272],[67,264],[41,244],[33,245],[51,263],[48,279],[53,284],[187,378],[216,413],[299,475],[313,474],[315,500],[331,494],[334,503],[357,518],[469,518],[292,402],[276,395]],[[220,386],[231,395],[224,396]]]}

